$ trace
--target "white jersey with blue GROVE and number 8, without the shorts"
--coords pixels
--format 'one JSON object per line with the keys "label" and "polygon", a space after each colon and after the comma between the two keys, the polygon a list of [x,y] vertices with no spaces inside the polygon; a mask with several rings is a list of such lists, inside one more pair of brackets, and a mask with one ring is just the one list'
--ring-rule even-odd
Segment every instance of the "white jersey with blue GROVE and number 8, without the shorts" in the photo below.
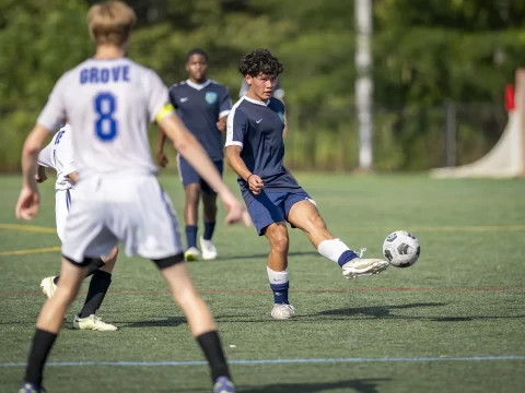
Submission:
{"label": "white jersey with blue GROVE and number 8, without the shorts", "polygon": [[37,122],[56,130],[68,118],[80,178],[154,174],[148,123],[168,102],[154,71],[127,58],[89,59],[60,78]]}

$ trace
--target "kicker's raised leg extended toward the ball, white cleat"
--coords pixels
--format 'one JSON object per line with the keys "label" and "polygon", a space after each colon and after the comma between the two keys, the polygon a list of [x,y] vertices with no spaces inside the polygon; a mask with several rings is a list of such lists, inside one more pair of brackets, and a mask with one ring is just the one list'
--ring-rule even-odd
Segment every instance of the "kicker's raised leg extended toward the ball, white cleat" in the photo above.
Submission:
{"label": "kicker's raised leg extended toward the ball, white cleat", "polygon": [[317,207],[311,201],[294,203],[290,209],[288,221],[308,236],[323,257],[341,266],[345,278],[380,274],[388,267],[387,261],[361,258],[341,240],[336,239],[326,228]]}

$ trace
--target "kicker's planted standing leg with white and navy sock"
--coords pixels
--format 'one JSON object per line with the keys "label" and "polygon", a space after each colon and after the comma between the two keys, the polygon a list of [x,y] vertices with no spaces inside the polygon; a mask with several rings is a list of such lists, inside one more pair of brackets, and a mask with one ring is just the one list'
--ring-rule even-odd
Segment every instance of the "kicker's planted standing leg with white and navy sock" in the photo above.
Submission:
{"label": "kicker's planted standing leg with white and navy sock", "polygon": [[277,320],[287,320],[294,315],[295,308],[288,300],[288,228],[285,222],[270,224],[265,231],[270,242],[267,272],[270,288],[273,291],[273,308],[271,317]]}

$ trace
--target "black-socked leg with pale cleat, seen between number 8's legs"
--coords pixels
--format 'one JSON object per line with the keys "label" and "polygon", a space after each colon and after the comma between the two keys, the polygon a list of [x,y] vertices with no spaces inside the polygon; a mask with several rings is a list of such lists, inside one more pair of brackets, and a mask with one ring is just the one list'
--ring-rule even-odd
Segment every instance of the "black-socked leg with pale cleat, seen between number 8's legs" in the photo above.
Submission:
{"label": "black-socked leg with pale cleat, seen between number 8's legs", "polygon": [[117,262],[117,255],[118,249],[115,247],[109,255],[98,260],[98,262],[102,261],[103,266],[97,270],[91,278],[84,306],[82,310],[74,315],[73,329],[101,332],[114,332],[118,330],[117,326],[104,322],[96,315],[96,311],[101,308],[104,297],[112,284],[112,272]]}

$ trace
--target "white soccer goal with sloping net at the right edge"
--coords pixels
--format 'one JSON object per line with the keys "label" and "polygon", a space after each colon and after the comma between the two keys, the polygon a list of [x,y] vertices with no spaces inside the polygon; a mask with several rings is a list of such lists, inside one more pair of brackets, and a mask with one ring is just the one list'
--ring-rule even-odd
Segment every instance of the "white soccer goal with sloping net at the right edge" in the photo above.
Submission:
{"label": "white soccer goal with sloping net at the right edge", "polygon": [[518,178],[525,177],[525,69],[516,71],[515,106],[509,106],[509,122],[498,143],[471,164],[438,168],[433,178]]}

